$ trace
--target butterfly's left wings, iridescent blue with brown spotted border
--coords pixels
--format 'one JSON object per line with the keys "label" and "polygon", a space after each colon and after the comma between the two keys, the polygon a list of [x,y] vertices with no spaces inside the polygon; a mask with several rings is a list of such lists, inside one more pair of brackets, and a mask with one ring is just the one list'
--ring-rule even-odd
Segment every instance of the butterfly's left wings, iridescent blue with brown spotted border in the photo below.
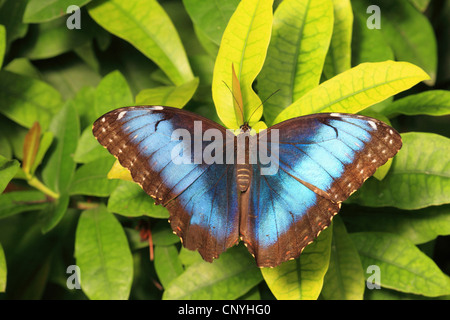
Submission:
{"label": "butterfly's left wings, iridescent blue with brown spotted border", "polygon": [[[196,121],[201,122],[202,134],[218,129],[224,141],[230,134],[194,113],[159,106],[111,111],[94,123],[93,133],[155,203],[167,207],[171,227],[183,245],[212,261],[239,241],[236,172],[234,165],[195,163],[195,152],[186,163],[173,161],[172,150],[180,141],[172,140],[172,133],[184,129],[193,134]],[[189,143],[194,150],[194,139]],[[202,142],[199,151],[208,143]]]}

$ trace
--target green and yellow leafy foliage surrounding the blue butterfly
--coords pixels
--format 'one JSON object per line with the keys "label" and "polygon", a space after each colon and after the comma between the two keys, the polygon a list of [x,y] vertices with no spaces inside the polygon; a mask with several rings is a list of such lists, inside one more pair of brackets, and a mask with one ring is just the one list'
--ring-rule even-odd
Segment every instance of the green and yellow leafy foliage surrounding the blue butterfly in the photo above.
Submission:
{"label": "green and yellow leafy foliage surrounding the blue butterfly", "polygon": [[[239,3],[0,1],[1,298],[449,297],[450,2],[275,1],[273,28],[271,1]],[[380,30],[366,27],[371,4]],[[82,7],[80,30],[66,27],[69,5]],[[167,210],[91,133],[103,113],[137,104],[184,106],[233,127],[222,85],[230,61],[240,63],[247,114],[281,89],[257,127],[361,112],[403,137],[332,227],[273,269],[258,269],[242,245],[212,264],[182,248]],[[75,264],[81,290],[67,288]],[[370,265],[380,290],[366,288]]]}

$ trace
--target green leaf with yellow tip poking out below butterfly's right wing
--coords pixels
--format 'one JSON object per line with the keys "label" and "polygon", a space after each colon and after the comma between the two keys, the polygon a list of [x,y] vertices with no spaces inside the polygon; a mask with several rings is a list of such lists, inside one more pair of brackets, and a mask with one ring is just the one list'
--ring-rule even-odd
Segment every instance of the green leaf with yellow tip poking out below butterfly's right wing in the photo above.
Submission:
{"label": "green leaf with yellow tip poking out below butterfly's right wing", "polygon": [[300,257],[275,268],[262,268],[267,285],[277,299],[315,300],[322,290],[331,253],[332,228],[321,232]]}

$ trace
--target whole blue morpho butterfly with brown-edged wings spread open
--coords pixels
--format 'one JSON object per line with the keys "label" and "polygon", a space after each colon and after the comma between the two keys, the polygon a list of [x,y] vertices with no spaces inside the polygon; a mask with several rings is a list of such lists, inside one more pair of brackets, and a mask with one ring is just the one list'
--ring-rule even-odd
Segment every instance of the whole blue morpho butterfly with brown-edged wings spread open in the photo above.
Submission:
{"label": "whole blue morpho butterfly with brown-edged wings spread open", "polygon": [[[180,130],[203,139],[174,139]],[[247,123],[236,135],[192,112],[162,106],[120,108],[93,126],[134,181],[167,207],[186,248],[212,262],[241,239],[259,267],[297,258],[342,201],[402,145],[385,123],[342,113],[290,119],[253,140],[248,132]],[[241,135],[253,143],[244,143],[238,159]],[[227,152],[211,151],[217,141]],[[253,156],[258,148],[271,150],[276,170],[259,152]],[[219,161],[197,158],[208,152]]]}

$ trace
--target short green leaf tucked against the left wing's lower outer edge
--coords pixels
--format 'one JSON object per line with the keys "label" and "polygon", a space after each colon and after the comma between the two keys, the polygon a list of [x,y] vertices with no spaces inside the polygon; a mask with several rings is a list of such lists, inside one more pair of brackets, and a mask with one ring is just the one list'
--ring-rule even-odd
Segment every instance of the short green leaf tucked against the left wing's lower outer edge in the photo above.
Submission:
{"label": "short green leaf tucked against the left wing's lower outer edge", "polygon": [[150,216],[168,218],[169,213],[163,206],[155,205],[155,201],[131,181],[121,181],[111,193],[108,210],[127,217]]}

